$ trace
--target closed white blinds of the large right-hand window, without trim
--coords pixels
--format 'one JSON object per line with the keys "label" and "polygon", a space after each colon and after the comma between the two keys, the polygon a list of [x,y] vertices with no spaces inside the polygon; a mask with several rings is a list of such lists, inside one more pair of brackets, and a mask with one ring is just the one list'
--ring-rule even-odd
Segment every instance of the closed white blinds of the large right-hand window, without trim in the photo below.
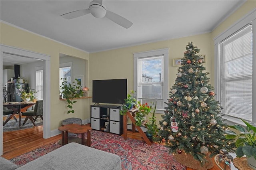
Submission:
{"label": "closed white blinds of the large right-hand window, without trim", "polygon": [[252,121],[252,24],[219,44],[222,113]]}

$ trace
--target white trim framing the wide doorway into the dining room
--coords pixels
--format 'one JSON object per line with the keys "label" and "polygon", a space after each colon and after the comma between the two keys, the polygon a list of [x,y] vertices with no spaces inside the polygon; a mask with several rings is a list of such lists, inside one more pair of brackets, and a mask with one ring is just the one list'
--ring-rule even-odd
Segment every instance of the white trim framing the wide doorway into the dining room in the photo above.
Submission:
{"label": "white trim framing the wide doorway into the dining room", "polygon": [[[51,102],[51,97],[50,97],[50,56],[49,55],[44,55],[40,53],[36,53],[33,51],[27,51],[24,49],[19,49],[16,47],[11,47],[8,45],[1,45],[1,51],[0,51],[0,75],[3,74],[3,55],[4,53],[7,54],[12,54],[12,55],[18,55],[18,56],[24,56],[28,57],[31,59],[39,59],[44,61],[44,120],[43,120],[43,138],[50,138],[50,102]],[[2,91],[3,91],[3,82],[2,78],[0,79],[0,95],[2,96]],[[47,93],[46,93],[47,92]],[[2,103],[3,98],[0,98],[0,102]],[[2,126],[3,122],[3,106],[0,105],[0,126]],[[0,128],[0,155],[3,154],[3,131],[2,128]]]}

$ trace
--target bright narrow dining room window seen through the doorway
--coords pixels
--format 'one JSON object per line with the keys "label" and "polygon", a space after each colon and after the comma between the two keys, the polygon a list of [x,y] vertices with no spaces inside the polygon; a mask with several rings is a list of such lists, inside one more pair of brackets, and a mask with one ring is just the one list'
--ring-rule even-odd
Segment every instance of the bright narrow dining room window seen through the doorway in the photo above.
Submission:
{"label": "bright narrow dining room window seen through the doorway", "polygon": [[37,70],[36,71],[36,91],[38,91],[35,95],[36,99],[44,98],[44,71]]}

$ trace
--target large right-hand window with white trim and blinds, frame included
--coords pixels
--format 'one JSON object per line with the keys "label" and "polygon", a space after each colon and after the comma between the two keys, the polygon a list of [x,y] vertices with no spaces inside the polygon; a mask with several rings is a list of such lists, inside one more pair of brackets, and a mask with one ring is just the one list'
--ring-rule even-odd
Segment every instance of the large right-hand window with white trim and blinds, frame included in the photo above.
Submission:
{"label": "large right-hand window with white trim and blinds, frame included", "polygon": [[253,83],[256,77],[253,43],[256,36],[252,34],[256,24],[255,14],[244,18],[215,40],[218,100],[223,107],[222,114],[230,116],[228,121],[236,123],[241,122],[238,118],[256,122],[256,106],[253,105],[256,88]]}

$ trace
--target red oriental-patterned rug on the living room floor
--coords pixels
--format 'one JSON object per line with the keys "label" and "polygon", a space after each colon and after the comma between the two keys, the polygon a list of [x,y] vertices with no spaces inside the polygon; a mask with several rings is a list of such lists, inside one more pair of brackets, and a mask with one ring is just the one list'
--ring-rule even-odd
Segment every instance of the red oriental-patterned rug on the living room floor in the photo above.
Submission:
{"label": "red oriental-patterned rug on the living room floor", "polygon": [[[186,170],[172,155],[168,148],[160,144],[151,146],[144,141],[128,138],[106,132],[92,130],[92,148],[110,152],[121,157],[122,170]],[[26,154],[17,156],[10,161],[22,166],[48,152],[59,148],[58,141],[37,148]]]}

